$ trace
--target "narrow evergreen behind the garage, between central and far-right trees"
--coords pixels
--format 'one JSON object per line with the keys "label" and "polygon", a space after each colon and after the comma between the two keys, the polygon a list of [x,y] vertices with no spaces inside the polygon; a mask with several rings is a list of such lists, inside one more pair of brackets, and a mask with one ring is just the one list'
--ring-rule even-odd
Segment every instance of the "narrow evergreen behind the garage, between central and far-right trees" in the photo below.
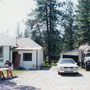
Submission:
{"label": "narrow evergreen behind the garage, between central and far-right trees", "polygon": [[61,25],[64,27],[62,50],[70,51],[74,49],[74,36],[75,36],[75,26],[74,26],[74,6],[71,0],[67,0],[65,5],[64,15],[61,18]]}

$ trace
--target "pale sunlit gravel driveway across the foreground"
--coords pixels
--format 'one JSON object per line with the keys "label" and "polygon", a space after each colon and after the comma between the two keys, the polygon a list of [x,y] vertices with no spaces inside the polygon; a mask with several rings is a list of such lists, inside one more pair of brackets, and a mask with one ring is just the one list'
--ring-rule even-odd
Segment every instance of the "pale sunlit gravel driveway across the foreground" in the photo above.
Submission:
{"label": "pale sunlit gravel driveway across the foreground", "polygon": [[90,72],[58,75],[56,67],[28,71],[0,81],[0,90],[90,90]]}

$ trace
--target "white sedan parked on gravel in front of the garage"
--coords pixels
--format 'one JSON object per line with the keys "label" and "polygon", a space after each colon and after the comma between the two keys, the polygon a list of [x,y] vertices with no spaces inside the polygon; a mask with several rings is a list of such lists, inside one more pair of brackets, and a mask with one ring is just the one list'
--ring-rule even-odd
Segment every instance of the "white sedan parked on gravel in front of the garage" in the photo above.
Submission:
{"label": "white sedan parked on gravel in front of the garage", "polygon": [[57,63],[58,74],[78,73],[78,65],[72,58],[61,58]]}

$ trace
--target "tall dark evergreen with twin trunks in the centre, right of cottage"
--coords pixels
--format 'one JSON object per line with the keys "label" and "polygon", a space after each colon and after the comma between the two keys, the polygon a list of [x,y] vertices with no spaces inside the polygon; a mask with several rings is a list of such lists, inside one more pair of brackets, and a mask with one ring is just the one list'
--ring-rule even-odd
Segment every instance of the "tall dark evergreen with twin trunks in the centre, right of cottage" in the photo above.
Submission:
{"label": "tall dark evergreen with twin trunks in the centre, right of cottage", "polygon": [[51,64],[51,60],[56,60],[61,50],[61,37],[57,29],[59,5],[56,0],[36,0],[36,2],[37,8],[34,11],[36,24],[31,32],[32,39],[42,42],[49,64]]}

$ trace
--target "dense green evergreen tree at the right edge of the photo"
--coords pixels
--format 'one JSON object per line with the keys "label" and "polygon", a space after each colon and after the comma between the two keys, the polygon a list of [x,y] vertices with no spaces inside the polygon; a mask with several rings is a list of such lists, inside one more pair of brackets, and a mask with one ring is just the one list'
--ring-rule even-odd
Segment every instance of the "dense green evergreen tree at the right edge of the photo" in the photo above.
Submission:
{"label": "dense green evergreen tree at the right edge of the photo", "polygon": [[77,41],[78,44],[90,43],[90,0],[78,0]]}

